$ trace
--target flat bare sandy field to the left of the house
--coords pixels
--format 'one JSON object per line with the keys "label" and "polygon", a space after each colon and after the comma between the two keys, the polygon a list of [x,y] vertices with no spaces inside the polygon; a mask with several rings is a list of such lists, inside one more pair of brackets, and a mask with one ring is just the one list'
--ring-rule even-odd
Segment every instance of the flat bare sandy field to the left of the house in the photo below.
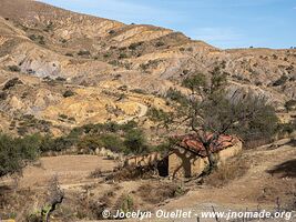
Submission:
{"label": "flat bare sandy field to the left of the house", "polygon": [[[58,176],[64,188],[82,185],[91,182],[89,175],[95,169],[110,171],[116,165],[114,161],[105,160],[96,155],[61,155],[41,158],[35,165],[24,169],[23,176],[19,180],[20,188],[41,189],[48,182]],[[7,179],[2,184],[13,183]]]}

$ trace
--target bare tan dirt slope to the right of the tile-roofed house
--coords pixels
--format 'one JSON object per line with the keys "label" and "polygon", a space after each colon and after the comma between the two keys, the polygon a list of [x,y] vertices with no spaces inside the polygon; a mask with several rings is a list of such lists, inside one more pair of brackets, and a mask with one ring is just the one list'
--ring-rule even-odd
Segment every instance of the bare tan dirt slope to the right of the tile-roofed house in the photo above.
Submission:
{"label": "bare tan dirt slope to the right of the tile-roofed house", "polygon": [[[190,191],[180,199],[172,200],[164,208],[194,209],[196,212],[216,210],[246,210],[246,209],[275,209],[274,193],[280,189],[289,190],[296,185],[296,147],[282,145],[275,150],[259,148],[256,151],[246,151],[245,158],[249,160],[251,168],[241,179],[234,180],[224,188],[201,188]],[[292,176],[279,176],[268,171],[283,163],[290,163]],[[282,188],[280,188],[282,186]],[[284,192],[284,191],[283,191]],[[282,198],[280,195],[278,196]]]}

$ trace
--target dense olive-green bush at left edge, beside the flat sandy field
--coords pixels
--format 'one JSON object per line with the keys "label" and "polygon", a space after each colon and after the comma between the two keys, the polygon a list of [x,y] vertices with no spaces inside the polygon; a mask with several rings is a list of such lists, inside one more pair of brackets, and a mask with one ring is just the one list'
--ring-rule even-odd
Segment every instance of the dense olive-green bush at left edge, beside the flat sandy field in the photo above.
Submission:
{"label": "dense olive-green bush at left edge, beside the flat sandy field", "polygon": [[21,173],[28,162],[39,154],[40,137],[11,138],[0,134],[0,178]]}

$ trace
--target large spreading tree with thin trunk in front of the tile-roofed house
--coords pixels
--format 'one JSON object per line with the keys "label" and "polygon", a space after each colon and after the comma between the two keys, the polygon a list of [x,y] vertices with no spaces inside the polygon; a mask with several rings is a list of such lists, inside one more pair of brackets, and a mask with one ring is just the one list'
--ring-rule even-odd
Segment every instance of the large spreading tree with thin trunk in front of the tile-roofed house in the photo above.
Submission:
{"label": "large spreading tree with thin trunk in front of the tile-roofed house", "polygon": [[215,144],[220,135],[237,133],[249,137],[249,131],[254,131],[267,137],[277,127],[275,110],[265,98],[251,93],[229,97],[226,85],[227,74],[218,68],[210,78],[202,73],[186,78],[183,87],[190,89],[191,94],[187,102],[176,109],[176,121],[172,121],[172,125],[185,127],[203,143],[210,162],[208,173],[216,168],[211,144]]}

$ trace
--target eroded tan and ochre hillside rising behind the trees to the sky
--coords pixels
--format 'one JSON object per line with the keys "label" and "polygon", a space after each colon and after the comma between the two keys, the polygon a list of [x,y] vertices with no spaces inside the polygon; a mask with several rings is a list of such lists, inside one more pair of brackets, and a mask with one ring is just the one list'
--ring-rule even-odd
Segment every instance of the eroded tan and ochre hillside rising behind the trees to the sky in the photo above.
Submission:
{"label": "eroded tan and ochre hillside rising behind the trees to the sky", "polygon": [[[169,29],[124,24],[29,0],[0,2],[2,130],[33,119],[53,134],[144,115],[187,75],[225,72],[228,92],[254,92],[278,109],[296,99],[296,50],[220,50]],[[13,80],[14,78],[14,80]],[[18,78],[18,79],[16,79]],[[142,112],[142,113],[141,113]],[[37,119],[37,120],[34,120]],[[25,124],[25,123],[23,123]]]}

